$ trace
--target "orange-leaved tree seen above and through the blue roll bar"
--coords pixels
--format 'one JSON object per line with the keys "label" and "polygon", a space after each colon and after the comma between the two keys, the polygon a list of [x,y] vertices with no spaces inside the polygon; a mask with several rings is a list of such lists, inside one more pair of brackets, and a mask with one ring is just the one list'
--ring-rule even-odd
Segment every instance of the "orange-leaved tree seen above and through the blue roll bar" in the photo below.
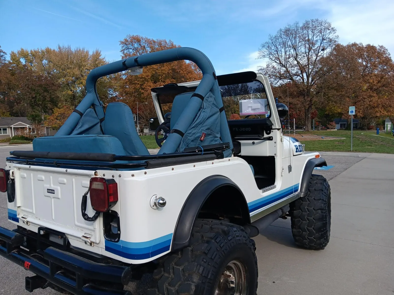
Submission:
{"label": "orange-leaved tree seen above and through the blue roll bar", "polygon": [[[139,35],[127,35],[119,41],[122,58],[138,56],[149,52],[180,47],[173,41],[164,39],[150,39]],[[125,102],[137,111],[137,102],[146,102],[138,108],[141,125],[147,124],[156,111],[152,103],[151,89],[167,83],[182,83],[200,80],[202,74],[194,63],[189,61],[174,61],[160,65],[145,66],[143,73],[138,76],[116,76],[117,91],[113,100]]]}

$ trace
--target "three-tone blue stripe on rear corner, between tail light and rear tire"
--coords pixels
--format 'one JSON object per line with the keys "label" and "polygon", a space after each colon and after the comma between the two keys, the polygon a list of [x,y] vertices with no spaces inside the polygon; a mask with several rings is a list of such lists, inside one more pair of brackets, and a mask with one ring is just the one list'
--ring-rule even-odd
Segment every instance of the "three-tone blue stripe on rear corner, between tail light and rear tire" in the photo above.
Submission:
{"label": "three-tone blue stripe on rear corner, between tail light and rear tire", "polygon": [[133,260],[151,258],[169,251],[172,236],[171,233],[147,242],[105,241],[105,251]]}

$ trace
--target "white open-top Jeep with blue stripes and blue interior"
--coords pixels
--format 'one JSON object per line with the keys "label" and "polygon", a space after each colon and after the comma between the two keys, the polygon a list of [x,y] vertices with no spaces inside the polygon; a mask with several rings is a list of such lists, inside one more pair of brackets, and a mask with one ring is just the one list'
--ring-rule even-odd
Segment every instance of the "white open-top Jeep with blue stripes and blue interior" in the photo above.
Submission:
{"label": "white open-top Jeep with blue stripes and blue interior", "polygon": [[[95,83],[184,59],[203,78],[152,89],[161,148],[150,155],[130,108],[104,110]],[[275,105],[267,77],[216,76],[202,52],[174,48],[100,66],[86,90],[55,136],[12,151],[0,169],[17,226],[0,227],[0,254],[35,273],[28,291],[125,295],[150,272],[150,295],[256,294],[251,238],[273,221],[290,216],[300,247],[329,242],[330,187],[312,175],[325,160],[283,134],[288,110]]]}

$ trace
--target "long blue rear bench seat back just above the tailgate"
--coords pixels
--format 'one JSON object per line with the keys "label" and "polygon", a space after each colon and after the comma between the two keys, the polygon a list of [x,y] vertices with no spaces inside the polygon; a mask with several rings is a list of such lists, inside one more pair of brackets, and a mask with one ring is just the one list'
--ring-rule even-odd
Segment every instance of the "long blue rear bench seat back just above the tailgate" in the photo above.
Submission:
{"label": "long blue rear bench seat back just above the tailgate", "polygon": [[33,151],[126,155],[121,142],[116,137],[93,134],[37,137],[33,140]]}

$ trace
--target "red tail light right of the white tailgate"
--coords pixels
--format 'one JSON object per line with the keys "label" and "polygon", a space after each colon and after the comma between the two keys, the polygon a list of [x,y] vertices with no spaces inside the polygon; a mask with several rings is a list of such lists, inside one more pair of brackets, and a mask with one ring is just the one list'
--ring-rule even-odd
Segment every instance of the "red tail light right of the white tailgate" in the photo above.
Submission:
{"label": "red tail light right of the white tailgate", "polygon": [[89,194],[93,210],[107,212],[118,201],[118,185],[115,179],[93,177],[90,179]]}

